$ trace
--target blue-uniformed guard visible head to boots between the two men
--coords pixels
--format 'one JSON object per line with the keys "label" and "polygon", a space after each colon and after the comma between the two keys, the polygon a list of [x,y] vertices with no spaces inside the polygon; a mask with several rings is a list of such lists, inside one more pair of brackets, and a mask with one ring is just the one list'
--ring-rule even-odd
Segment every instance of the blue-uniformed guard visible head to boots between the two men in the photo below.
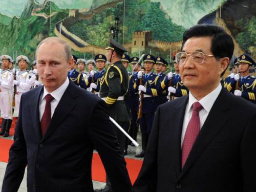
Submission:
{"label": "blue-uniformed guard visible head to boots between the two men", "polygon": [[[157,109],[157,96],[160,94],[159,90],[159,76],[153,73],[155,64],[155,57],[150,54],[146,54],[143,57],[143,63],[145,67],[145,74],[141,71],[138,72],[138,79],[135,84],[135,88],[140,91],[140,107],[139,114],[142,116],[139,118],[140,130],[141,130],[141,141],[142,141],[142,152],[137,154],[135,157],[144,157],[148,137],[150,136],[155,111]],[[140,79],[142,78],[142,83]]]}

